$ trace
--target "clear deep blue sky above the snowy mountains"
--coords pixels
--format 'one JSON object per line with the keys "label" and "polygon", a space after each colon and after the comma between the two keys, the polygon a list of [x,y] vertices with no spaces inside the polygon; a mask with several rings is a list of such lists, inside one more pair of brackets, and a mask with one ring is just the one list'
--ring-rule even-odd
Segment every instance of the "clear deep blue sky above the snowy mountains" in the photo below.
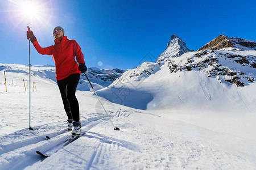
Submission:
{"label": "clear deep blue sky above the snowy mountains", "polygon": [[[38,18],[18,12],[36,3]],[[27,25],[42,47],[53,45],[60,25],[81,46],[88,67],[133,69],[150,52],[155,59],[172,34],[197,50],[218,35],[256,40],[256,1],[2,0],[0,62],[28,64]],[[27,18],[28,19],[27,19]],[[54,65],[31,46],[32,65]]]}

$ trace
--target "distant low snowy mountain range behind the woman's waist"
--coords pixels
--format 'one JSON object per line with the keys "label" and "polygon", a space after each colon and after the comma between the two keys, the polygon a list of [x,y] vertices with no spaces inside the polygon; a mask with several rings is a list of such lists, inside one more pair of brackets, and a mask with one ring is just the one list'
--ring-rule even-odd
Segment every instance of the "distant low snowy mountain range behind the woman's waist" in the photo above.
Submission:
{"label": "distant low snowy mountain range behind the woman's waist", "polygon": [[[5,70],[7,73],[22,73],[25,81],[28,81],[29,67],[28,65],[4,64],[0,63],[0,71]],[[120,69],[98,69],[96,67],[88,68],[86,75],[93,87],[98,90],[109,86],[117,79],[125,70]],[[32,65],[31,76],[48,79],[51,82],[56,82],[55,66],[52,65]],[[23,83],[23,82],[22,82]],[[89,91],[90,84],[84,74],[81,74],[77,90]]]}

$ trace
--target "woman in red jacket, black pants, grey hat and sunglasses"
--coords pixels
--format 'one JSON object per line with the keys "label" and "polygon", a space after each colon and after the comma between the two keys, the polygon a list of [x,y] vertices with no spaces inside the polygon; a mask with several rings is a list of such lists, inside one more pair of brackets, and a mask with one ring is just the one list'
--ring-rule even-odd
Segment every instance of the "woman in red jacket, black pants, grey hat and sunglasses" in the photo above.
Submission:
{"label": "woman in red jacket, black pants, grey hat and sunglasses", "polygon": [[[79,115],[79,103],[76,99],[76,87],[80,79],[80,74],[85,73],[87,68],[84,62],[84,55],[80,46],[75,40],[67,39],[64,36],[64,29],[55,27],[53,37],[55,45],[42,48],[34,33],[27,31],[27,39],[34,44],[35,49],[40,54],[52,55],[56,67],[56,80],[60,89],[64,109],[68,116],[68,130],[72,130],[72,135],[81,134],[81,123]],[[75,60],[76,57],[76,60]],[[77,65],[77,62],[79,65]]]}

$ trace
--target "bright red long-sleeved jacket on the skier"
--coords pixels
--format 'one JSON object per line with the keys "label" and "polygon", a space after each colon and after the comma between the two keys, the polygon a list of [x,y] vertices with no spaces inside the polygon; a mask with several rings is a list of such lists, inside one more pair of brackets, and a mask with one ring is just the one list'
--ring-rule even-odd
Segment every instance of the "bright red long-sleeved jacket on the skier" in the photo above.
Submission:
{"label": "bright red long-sleeved jacket on the skier", "polygon": [[[78,63],[84,62],[84,54],[82,54],[80,46],[75,40],[69,40],[67,36],[63,39],[55,39],[55,45],[42,48],[38,44],[38,40],[34,42],[35,49],[40,54],[52,55],[56,67],[56,80],[67,78],[71,74],[79,73]],[[75,60],[76,56],[76,60]]]}

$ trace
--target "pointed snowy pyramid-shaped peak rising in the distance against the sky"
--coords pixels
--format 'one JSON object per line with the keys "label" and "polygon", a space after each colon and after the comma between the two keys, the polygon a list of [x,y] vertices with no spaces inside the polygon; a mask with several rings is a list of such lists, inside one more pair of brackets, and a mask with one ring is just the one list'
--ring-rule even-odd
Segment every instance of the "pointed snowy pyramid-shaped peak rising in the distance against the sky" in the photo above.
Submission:
{"label": "pointed snowy pyramid-shaped peak rising in the distance against the sky", "polygon": [[179,57],[184,53],[192,51],[193,50],[187,48],[187,45],[180,37],[173,34],[171,40],[167,44],[166,50],[158,56],[156,62],[166,61],[169,58]]}

